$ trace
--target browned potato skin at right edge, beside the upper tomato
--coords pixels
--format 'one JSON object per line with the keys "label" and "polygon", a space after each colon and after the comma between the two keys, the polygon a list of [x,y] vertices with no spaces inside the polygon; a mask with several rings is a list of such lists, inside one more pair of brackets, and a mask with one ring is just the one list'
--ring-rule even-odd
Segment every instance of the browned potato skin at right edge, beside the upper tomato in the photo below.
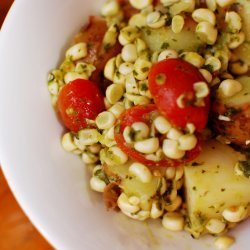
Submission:
{"label": "browned potato skin at right edge, beside the upper tomato", "polygon": [[[227,116],[230,121],[219,120],[219,115]],[[216,100],[211,112],[212,128],[231,143],[247,148],[246,141],[250,139],[250,103],[241,106],[226,106]]]}

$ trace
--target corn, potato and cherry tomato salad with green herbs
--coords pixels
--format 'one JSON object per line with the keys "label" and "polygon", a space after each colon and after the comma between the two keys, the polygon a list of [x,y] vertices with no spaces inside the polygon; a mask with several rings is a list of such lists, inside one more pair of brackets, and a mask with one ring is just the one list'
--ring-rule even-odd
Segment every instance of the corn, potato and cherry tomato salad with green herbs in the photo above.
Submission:
{"label": "corn, potato and cherry tomato salad with green herbs", "polygon": [[90,187],[129,218],[193,238],[250,215],[247,0],[109,0],[48,76]]}

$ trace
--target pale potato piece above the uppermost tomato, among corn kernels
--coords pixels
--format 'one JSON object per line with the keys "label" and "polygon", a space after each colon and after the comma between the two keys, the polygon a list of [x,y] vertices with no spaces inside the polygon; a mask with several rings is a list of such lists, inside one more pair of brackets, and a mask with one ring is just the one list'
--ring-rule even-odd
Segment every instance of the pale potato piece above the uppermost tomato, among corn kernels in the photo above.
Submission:
{"label": "pale potato piece above the uppermost tomato, among corn kernels", "polygon": [[180,33],[174,33],[170,27],[145,28],[142,36],[151,51],[163,49],[174,49],[177,52],[197,51],[203,45],[195,32],[188,28],[183,29]]}

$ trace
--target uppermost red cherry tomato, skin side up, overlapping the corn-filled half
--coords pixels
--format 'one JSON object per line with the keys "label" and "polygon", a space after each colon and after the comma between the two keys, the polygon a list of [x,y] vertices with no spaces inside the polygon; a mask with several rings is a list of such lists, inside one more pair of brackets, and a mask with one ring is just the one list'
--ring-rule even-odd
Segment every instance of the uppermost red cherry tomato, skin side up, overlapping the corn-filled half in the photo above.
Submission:
{"label": "uppermost red cherry tomato, skin side up, overlapping the corn-filled half", "polygon": [[[194,83],[206,82],[198,68],[181,59],[167,59],[152,66],[149,72],[149,90],[158,109],[174,125],[185,128],[193,123],[198,131],[206,127],[210,107],[210,96],[204,105],[196,105]],[[184,107],[177,99],[184,95]]]}

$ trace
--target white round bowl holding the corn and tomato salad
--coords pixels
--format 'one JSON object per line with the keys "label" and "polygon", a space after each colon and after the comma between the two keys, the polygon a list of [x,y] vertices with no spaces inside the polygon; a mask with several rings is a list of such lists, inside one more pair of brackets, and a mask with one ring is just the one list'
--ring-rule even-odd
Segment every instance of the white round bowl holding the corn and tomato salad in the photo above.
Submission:
{"label": "white round bowl holding the corn and tomato salad", "polygon": [[[76,156],[60,146],[63,131],[50,105],[46,77],[70,38],[103,1],[15,1],[0,40],[0,159],[17,200],[57,249],[210,249],[160,222],[137,222],[106,211]],[[232,232],[232,249],[248,249],[247,227]]]}

